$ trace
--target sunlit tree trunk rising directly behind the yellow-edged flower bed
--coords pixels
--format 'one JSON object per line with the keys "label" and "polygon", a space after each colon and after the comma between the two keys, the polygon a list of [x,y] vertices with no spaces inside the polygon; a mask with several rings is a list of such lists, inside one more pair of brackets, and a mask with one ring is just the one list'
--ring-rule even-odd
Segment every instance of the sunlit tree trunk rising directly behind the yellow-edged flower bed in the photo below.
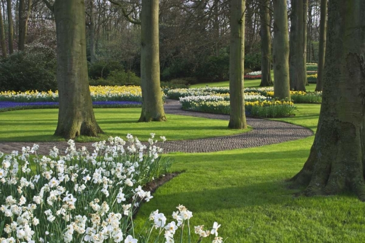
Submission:
{"label": "sunlit tree trunk rising directly behind the yellow-edged flower bed", "polygon": [[274,97],[290,100],[287,1],[273,0],[273,4]]}

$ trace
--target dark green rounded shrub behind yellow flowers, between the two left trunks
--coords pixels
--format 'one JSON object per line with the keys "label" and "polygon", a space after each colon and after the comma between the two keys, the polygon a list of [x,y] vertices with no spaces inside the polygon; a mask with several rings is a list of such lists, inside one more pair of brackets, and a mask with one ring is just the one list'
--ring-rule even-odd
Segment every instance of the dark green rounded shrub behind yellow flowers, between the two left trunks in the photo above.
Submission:
{"label": "dark green rounded shrub behind yellow flowers, between the two left trunks", "polygon": [[118,71],[124,70],[123,65],[117,61],[104,61],[104,60],[96,61],[90,64],[89,78],[96,80],[98,78],[106,79],[109,76],[110,72],[115,70]]}

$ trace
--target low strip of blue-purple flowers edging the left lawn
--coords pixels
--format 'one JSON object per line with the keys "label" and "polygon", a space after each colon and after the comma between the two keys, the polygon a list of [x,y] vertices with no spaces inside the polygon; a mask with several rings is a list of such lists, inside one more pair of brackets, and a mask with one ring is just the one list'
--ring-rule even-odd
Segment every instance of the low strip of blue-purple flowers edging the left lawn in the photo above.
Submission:
{"label": "low strip of blue-purple flowers edging the left lawn", "polygon": [[[137,101],[93,101],[94,108],[133,108],[141,107]],[[0,112],[22,109],[58,108],[58,102],[12,102],[0,101]]]}

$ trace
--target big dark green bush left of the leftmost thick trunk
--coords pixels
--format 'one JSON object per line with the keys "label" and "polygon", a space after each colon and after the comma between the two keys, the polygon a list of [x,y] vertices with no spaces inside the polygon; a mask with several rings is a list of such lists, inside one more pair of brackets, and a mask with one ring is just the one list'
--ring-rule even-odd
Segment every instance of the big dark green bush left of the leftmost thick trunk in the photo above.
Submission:
{"label": "big dark green bush left of the leftmost thick trunk", "polygon": [[0,91],[56,90],[55,55],[16,52],[0,61]]}

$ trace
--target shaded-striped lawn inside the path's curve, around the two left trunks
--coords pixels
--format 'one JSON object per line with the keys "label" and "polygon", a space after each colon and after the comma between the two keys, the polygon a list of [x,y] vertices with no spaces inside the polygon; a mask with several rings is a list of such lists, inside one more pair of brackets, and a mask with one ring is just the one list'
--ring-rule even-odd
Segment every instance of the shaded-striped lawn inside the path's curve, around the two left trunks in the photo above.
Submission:
{"label": "shaded-striped lawn inside the path's curve, around the two left trunks", "polygon": [[[150,133],[168,140],[185,140],[234,135],[250,131],[228,129],[228,121],[167,114],[166,122],[137,122],[141,108],[94,109],[96,120],[106,133],[99,138],[79,137],[76,141],[100,141],[109,136],[125,139],[128,133],[146,141]],[[58,141],[53,136],[58,109],[18,110],[0,113],[0,141]]]}

